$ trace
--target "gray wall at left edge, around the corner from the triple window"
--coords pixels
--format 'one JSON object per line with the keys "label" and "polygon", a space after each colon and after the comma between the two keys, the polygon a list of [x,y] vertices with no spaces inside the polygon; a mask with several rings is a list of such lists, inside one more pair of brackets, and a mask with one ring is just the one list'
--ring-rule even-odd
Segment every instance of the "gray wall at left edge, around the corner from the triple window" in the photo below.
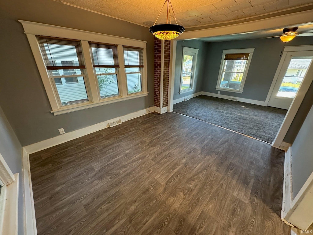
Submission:
{"label": "gray wall at left edge, around the corner from the triple window", "polygon": [[8,119],[0,107],[0,153],[10,170],[19,173],[18,189],[18,234],[24,234],[23,231],[23,186],[22,186],[22,146],[18,141]]}

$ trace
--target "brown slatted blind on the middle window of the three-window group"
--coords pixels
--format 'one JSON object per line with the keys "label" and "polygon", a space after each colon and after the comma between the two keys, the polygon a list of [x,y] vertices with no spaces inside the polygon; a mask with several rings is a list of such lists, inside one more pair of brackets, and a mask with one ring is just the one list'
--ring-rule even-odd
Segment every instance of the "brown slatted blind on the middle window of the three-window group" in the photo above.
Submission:
{"label": "brown slatted blind on the middle window of the three-window group", "polygon": [[94,68],[119,68],[117,45],[89,42]]}

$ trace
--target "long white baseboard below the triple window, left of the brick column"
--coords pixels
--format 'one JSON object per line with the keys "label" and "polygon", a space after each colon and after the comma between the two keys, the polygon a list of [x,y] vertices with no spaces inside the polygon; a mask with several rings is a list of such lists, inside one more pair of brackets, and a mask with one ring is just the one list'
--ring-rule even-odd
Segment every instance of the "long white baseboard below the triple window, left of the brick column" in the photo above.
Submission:
{"label": "long white baseboard below the triple window, left of the brick column", "polygon": [[[153,107],[150,107],[149,108],[150,112],[155,111],[153,109],[154,109]],[[58,135],[56,137],[46,139],[46,140],[40,141],[40,142],[35,143],[35,144],[30,144],[30,145],[24,146],[24,148],[28,154],[32,154],[32,153],[38,152],[40,150],[48,149],[48,148],[53,147],[55,145],[62,144],[62,143],[65,143],[67,141],[82,137],[84,135],[88,135],[90,133],[100,131],[104,128],[109,127],[109,123],[116,121],[117,119],[121,119],[122,122],[126,122],[127,120],[131,120],[133,118],[138,118],[138,117],[143,116],[147,113],[150,113],[149,110],[147,108],[142,109],[142,110],[139,110],[137,112],[129,113],[129,114],[126,114],[126,115],[121,116],[121,117],[116,117],[116,118],[113,118],[111,120],[104,121],[102,123],[97,123],[97,124],[94,124],[92,126],[85,127],[85,128],[82,128],[82,129],[79,129],[76,131],[72,131],[72,132],[62,134],[62,135]]]}

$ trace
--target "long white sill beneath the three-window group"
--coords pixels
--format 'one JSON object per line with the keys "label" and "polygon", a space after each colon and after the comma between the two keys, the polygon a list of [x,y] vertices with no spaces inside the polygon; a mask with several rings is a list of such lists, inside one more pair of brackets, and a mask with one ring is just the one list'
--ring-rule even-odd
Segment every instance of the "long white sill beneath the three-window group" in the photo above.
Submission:
{"label": "long white sill beneath the three-window group", "polygon": [[74,111],[78,111],[78,110],[82,110],[82,109],[86,109],[86,108],[92,108],[92,107],[97,107],[100,105],[111,104],[111,103],[120,102],[120,101],[124,101],[124,100],[130,100],[130,99],[134,99],[134,98],[144,97],[144,96],[147,96],[148,93],[149,92],[141,92],[141,93],[135,93],[135,94],[128,95],[127,97],[112,97],[112,98],[108,98],[105,100],[100,100],[100,102],[97,102],[97,103],[89,102],[89,103],[77,104],[76,106],[62,107],[58,110],[53,110],[51,112],[54,114],[54,116],[56,116],[56,115],[74,112]]}

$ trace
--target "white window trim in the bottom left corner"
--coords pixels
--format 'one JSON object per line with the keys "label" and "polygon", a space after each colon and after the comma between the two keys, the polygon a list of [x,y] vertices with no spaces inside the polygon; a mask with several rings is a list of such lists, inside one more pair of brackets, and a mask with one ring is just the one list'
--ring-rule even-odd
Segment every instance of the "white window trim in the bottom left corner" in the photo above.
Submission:
{"label": "white window trim in the bottom left corner", "polygon": [[0,235],[18,234],[18,180],[0,154]]}

